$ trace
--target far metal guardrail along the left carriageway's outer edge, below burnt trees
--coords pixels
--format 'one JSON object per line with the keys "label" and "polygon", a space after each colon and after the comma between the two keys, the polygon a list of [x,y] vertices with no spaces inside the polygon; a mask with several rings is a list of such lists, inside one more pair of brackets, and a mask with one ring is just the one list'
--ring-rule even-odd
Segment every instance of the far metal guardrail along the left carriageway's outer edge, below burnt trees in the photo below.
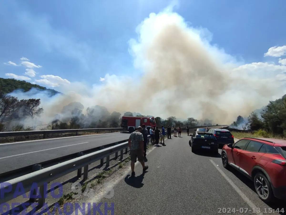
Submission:
{"label": "far metal guardrail along the left carriageway's outer edge, below burnt trees", "polygon": [[70,133],[70,132],[76,132],[76,135],[78,135],[78,132],[83,131],[119,131],[123,128],[84,128],[84,129],[64,129],[64,130],[38,130],[38,131],[19,131],[19,132],[0,132],[0,137],[9,137],[9,136],[27,136],[32,134],[43,134],[43,138],[46,138],[47,134],[55,134],[55,133]]}

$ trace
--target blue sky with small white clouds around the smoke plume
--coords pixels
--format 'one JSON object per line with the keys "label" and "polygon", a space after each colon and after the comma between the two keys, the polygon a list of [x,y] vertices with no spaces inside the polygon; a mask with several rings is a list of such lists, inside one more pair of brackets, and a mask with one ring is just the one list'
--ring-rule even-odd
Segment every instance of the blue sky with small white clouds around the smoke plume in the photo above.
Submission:
{"label": "blue sky with small white clouds around the smoke plume", "polygon": [[[35,83],[57,89],[74,81],[98,84],[107,73],[134,76],[140,71],[133,66],[128,41],[138,37],[138,24],[169,3],[1,1],[0,77],[18,75],[30,82],[48,79],[55,82]],[[189,25],[207,28],[212,45],[245,64],[279,64],[278,57],[265,57],[264,53],[270,47],[286,45],[285,11],[283,0],[179,1],[174,7]]]}

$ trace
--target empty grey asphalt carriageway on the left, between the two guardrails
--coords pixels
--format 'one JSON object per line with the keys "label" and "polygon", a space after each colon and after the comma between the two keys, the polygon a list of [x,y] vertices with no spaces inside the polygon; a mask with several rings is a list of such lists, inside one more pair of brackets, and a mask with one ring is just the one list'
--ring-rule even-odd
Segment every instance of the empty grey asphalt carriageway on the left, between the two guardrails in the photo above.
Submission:
{"label": "empty grey asphalt carriageway on the left, between the two guardrails", "polygon": [[109,133],[0,144],[0,173],[128,138],[129,134]]}

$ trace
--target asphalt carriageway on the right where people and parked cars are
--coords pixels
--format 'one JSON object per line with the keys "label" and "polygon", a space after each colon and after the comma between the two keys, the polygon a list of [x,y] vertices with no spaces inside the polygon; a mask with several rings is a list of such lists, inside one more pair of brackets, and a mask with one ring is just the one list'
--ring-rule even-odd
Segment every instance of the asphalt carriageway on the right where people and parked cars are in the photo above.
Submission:
{"label": "asphalt carriageway on the right where people and parked cars are", "polygon": [[[223,208],[247,208],[245,214],[263,214],[265,208],[286,210],[283,201],[274,205],[261,201],[253,182],[236,170],[223,168],[220,154],[192,153],[189,139],[183,132],[182,138],[172,137],[165,141],[166,146],[154,147],[147,155],[148,172],[142,174],[142,166],[136,165],[136,178],[130,178],[131,171],[126,173],[114,185],[114,196],[100,202],[108,202],[108,206],[113,202],[114,214],[227,214]],[[261,213],[253,213],[252,208]]]}

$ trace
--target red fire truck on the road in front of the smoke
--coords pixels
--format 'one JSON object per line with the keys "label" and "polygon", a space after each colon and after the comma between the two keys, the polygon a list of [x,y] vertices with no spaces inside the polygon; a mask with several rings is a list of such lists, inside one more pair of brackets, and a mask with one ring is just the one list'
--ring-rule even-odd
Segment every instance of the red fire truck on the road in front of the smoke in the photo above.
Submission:
{"label": "red fire truck on the road in front of the smoke", "polygon": [[154,117],[135,117],[135,116],[122,116],[122,123],[121,127],[125,130],[128,130],[128,132],[134,132],[135,128],[138,126],[142,126],[145,124],[146,128],[149,129],[151,127],[156,126],[156,122]]}

